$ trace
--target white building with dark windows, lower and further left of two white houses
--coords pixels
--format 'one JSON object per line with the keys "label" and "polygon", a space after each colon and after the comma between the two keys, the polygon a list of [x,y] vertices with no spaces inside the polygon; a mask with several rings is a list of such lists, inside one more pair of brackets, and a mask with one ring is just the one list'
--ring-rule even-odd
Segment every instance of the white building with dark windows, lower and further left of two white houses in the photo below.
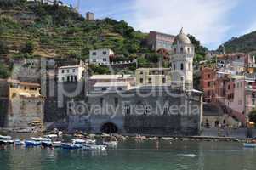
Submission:
{"label": "white building with dark windows, lower and further left of two white houses", "polygon": [[58,82],[79,82],[84,71],[84,65],[61,66],[58,68]]}

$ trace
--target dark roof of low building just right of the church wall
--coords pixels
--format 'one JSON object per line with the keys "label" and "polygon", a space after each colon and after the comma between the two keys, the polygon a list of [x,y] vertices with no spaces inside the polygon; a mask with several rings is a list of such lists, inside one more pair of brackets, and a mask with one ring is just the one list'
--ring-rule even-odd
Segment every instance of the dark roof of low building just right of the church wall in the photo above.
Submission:
{"label": "dark roof of low building just right of the church wall", "polygon": [[203,104],[203,116],[223,116],[224,111],[219,105]]}

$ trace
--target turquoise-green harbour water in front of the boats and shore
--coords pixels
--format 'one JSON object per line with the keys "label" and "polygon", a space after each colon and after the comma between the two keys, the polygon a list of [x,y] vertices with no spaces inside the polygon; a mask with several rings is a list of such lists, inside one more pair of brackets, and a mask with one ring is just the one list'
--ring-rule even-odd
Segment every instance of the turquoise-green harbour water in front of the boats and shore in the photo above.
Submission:
{"label": "turquoise-green harbour water in front of the boats and shore", "polygon": [[255,170],[256,150],[241,143],[133,140],[106,151],[0,149],[0,170]]}

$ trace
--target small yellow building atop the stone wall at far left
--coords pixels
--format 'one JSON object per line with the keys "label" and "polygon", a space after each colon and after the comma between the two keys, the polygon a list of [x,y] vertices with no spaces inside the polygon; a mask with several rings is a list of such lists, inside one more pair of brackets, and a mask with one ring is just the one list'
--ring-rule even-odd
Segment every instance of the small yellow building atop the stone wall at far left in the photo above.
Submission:
{"label": "small yellow building atop the stone wall at far left", "polygon": [[9,99],[15,97],[37,98],[41,97],[40,84],[31,82],[20,82],[9,79]]}

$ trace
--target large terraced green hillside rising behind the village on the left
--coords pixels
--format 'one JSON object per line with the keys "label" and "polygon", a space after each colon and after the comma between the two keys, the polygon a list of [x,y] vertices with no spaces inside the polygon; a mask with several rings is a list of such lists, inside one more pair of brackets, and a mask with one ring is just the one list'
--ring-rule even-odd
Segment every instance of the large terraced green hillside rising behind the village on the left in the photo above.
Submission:
{"label": "large terraced green hillside rising behind the village on the left", "polygon": [[148,51],[143,44],[146,34],[125,21],[88,21],[69,7],[24,0],[1,0],[0,7],[0,38],[8,44],[8,55],[20,54],[26,42],[34,45],[31,54],[42,56],[86,58],[92,48],[127,55]]}

